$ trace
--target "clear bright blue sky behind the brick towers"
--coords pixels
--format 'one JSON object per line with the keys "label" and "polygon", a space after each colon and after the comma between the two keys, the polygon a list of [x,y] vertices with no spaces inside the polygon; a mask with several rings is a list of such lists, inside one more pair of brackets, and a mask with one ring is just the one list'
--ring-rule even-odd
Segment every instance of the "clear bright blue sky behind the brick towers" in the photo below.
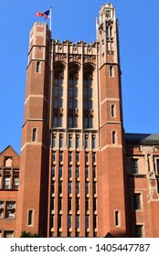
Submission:
{"label": "clear bright blue sky behind the brick towers", "polygon": [[[101,0],[4,0],[0,3],[0,152],[20,153],[29,30],[52,6],[52,38],[96,40]],[[159,133],[159,1],[112,0],[120,23],[122,105],[126,133]]]}

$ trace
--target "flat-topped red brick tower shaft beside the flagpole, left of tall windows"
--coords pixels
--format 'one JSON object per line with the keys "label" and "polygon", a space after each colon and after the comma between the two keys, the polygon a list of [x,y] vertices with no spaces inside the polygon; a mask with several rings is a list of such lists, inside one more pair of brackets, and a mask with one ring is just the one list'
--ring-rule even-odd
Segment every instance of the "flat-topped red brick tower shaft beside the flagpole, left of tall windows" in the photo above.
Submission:
{"label": "flat-topped red brick tower shaft beside the flagpole, left of tall windows", "polygon": [[36,23],[29,37],[16,236],[47,233],[49,42],[47,24]]}

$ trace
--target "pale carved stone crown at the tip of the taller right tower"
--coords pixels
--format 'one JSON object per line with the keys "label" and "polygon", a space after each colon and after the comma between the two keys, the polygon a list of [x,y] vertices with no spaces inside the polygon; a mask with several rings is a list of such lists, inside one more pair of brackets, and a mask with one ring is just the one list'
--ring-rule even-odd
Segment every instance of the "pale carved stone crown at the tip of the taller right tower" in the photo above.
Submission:
{"label": "pale carved stone crown at the tip of the taller right tower", "polygon": [[101,5],[101,10],[99,12],[100,24],[103,20],[115,20],[115,8],[110,3]]}

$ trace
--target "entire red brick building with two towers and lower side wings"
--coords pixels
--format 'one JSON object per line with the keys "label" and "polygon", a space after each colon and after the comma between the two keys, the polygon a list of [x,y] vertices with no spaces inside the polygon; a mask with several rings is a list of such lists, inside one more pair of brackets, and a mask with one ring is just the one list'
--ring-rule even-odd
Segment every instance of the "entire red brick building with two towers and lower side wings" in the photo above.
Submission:
{"label": "entire red brick building with two towers and lower side wings", "polygon": [[2,237],[159,237],[159,135],[124,133],[111,4],[96,27],[91,44],[30,31],[18,190],[19,156],[0,154]]}

